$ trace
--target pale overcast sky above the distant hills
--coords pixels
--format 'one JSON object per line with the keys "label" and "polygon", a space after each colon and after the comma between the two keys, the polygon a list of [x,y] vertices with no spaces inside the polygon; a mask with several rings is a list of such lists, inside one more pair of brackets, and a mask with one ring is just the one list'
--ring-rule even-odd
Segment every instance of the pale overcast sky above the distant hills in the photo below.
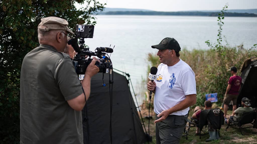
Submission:
{"label": "pale overcast sky above the distant hills", "polygon": [[257,0],[99,0],[109,8],[136,8],[153,11],[220,10],[228,3],[228,9],[255,9]]}

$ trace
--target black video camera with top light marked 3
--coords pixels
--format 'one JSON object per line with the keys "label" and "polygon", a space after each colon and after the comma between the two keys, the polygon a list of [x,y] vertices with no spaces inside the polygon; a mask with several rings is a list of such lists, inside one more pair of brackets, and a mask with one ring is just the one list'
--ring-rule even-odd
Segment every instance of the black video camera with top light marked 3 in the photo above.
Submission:
{"label": "black video camera with top light marked 3", "polygon": [[[68,45],[71,45],[74,50],[77,52],[76,56],[72,60],[76,73],[78,75],[84,75],[87,69],[87,66],[91,63],[91,56],[97,56],[98,60],[95,65],[99,67],[98,73],[112,73],[112,62],[107,53],[112,53],[113,49],[108,47],[97,47],[95,52],[89,51],[89,48],[84,47],[84,38],[93,38],[94,34],[94,25],[76,25],[76,37],[71,38],[68,41]],[[78,46],[78,38],[79,44]],[[107,55],[107,56],[106,56]],[[89,58],[86,58],[89,56]]]}

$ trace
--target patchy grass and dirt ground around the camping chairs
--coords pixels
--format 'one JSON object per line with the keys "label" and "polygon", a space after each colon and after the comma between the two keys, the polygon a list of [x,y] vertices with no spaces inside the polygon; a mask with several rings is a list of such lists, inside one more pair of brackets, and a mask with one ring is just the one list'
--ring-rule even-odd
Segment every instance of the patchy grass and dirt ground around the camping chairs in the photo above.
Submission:
{"label": "patchy grass and dirt ground around the camping chairs", "polygon": [[[143,116],[147,116],[148,115],[148,111],[141,111]],[[228,110],[228,115],[227,117],[229,117],[231,115],[232,111]],[[193,110],[191,109],[189,112],[189,117],[192,116],[193,114]],[[155,144],[156,143],[156,139],[155,139],[155,124],[154,122],[154,118],[155,116],[152,115],[153,119],[150,119],[150,136],[152,136],[152,142],[150,142],[150,144]],[[189,118],[190,119],[190,118]],[[144,124],[145,124],[145,128],[146,131],[148,133],[148,119],[144,118]],[[243,125],[243,127],[247,127],[247,126],[251,126],[251,124],[248,125]],[[206,139],[209,138],[209,134],[207,135],[203,135],[201,136],[201,139],[199,138],[199,136],[195,135],[195,131],[196,131],[196,127],[191,127],[189,132],[188,132],[188,140],[186,140],[186,136],[182,136],[180,139],[180,144],[203,144],[203,143],[208,143],[208,144],[218,144],[218,143],[224,143],[224,144],[256,144],[257,143],[257,129],[254,128],[246,128],[243,129],[243,135],[241,135],[239,128],[235,127],[235,126],[231,126],[227,129],[227,131],[225,131],[227,127],[227,124],[224,124],[221,127],[220,130],[220,140],[214,140],[214,141],[210,141],[210,142],[205,142]],[[206,128],[206,132],[207,132],[207,128]],[[183,134],[185,135],[185,133]],[[148,142],[146,142],[145,144],[147,144]]]}

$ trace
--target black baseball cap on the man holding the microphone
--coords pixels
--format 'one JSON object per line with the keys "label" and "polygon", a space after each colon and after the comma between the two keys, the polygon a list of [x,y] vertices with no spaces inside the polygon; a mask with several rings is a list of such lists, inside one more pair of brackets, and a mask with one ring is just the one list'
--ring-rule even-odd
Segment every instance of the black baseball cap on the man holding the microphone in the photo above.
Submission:
{"label": "black baseball cap on the man holding the microphone", "polygon": [[180,51],[180,46],[175,38],[166,37],[158,45],[153,45],[152,48],[156,49],[173,49],[176,52]]}

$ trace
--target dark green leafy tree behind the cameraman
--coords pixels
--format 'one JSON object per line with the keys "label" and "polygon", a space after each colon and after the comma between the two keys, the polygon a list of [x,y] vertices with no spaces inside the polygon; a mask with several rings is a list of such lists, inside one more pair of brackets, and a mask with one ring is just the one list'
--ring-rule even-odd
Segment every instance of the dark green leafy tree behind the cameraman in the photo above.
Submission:
{"label": "dark green leafy tree behind the cameraman", "polygon": [[[76,8],[76,5],[86,4]],[[20,69],[22,60],[39,45],[40,19],[56,16],[76,24],[96,24],[94,14],[105,4],[96,0],[2,0],[0,1],[0,143],[19,143]]]}

